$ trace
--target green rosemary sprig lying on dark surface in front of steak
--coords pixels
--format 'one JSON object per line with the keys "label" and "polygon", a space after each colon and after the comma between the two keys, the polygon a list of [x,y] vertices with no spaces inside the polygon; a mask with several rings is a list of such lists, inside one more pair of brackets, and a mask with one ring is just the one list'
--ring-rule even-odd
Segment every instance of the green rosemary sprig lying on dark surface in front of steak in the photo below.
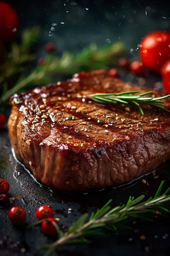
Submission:
{"label": "green rosemary sprig lying on dark surface in front of steak", "polygon": [[170,188],[161,194],[163,184],[162,181],[155,196],[147,200],[144,200],[145,195],[140,195],[138,198],[130,196],[126,204],[113,208],[110,206],[112,200],[109,200],[101,209],[93,212],[88,221],[86,221],[88,213],[85,213],[65,232],[55,225],[57,240],[50,245],[41,245],[38,249],[47,249],[45,256],[49,256],[55,249],[65,245],[91,243],[92,236],[103,235],[106,229],[117,231],[128,217],[152,221],[153,216],[169,215],[170,205],[167,203],[170,202]]}

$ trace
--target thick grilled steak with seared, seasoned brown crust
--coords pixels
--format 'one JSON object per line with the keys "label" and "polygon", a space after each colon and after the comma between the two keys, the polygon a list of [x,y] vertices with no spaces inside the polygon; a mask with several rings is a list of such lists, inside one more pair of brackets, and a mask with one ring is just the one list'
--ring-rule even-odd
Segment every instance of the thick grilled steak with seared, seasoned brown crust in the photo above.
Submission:
{"label": "thick grilled steak with seared, seasoned brown crust", "polygon": [[170,114],[144,106],[142,116],[82,97],[130,90],[150,89],[97,70],[15,94],[8,129],[16,156],[42,184],[64,191],[106,188],[154,171],[170,159]]}

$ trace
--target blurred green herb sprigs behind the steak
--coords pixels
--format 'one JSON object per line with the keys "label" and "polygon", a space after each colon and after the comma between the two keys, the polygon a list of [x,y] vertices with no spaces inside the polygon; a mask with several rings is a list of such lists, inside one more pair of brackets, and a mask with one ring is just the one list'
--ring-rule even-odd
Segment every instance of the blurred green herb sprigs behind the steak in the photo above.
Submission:
{"label": "blurred green herb sprigs behind the steak", "polygon": [[76,54],[65,51],[61,56],[55,52],[46,53],[43,63],[30,65],[36,60],[33,45],[38,42],[39,27],[25,29],[19,43],[12,42],[4,50],[3,61],[0,65],[0,111],[8,104],[9,98],[16,92],[21,92],[32,86],[46,85],[54,82],[53,76],[72,75],[82,70],[108,68],[115,65],[118,57],[125,52],[121,42],[106,44],[98,47],[91,43]]}

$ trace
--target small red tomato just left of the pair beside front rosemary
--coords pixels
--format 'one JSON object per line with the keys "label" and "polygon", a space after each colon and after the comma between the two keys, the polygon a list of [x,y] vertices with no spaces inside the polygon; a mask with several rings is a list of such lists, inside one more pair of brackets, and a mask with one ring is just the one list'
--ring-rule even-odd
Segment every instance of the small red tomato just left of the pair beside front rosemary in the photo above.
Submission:
{"label": "small red tomato just left of the pair beside front rosemary", "polygon": [[26,219],[26,212],[22,207],[14,206],[9,210],[9,220],[14,224],[22,224]]}

